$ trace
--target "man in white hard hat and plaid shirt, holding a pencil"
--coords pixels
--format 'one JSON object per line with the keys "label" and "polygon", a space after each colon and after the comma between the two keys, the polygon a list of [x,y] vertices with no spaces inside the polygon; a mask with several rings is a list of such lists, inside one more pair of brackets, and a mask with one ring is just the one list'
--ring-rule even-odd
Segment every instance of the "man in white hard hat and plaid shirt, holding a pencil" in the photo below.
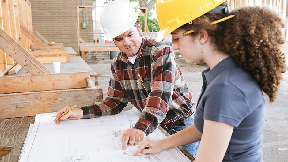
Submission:
{"label": "man in white hard hat and plaid shirt, holding a pencil", "polygon": [[[107,3],[100,13],[100,24],[108,39],[121,51],[111,63],[108,96],[101,104],[58,111],[56,123],[64,119],[95,118],[120,113],[131,102],[141,115],[134,128],[122,137],[127,144],[138,145],[157,126],[174,134],[194,123],[195,105],[172,48],[164,42],[141,35],[138,13],[123,0]],[[199,143],[184,148],[195,157]]]}

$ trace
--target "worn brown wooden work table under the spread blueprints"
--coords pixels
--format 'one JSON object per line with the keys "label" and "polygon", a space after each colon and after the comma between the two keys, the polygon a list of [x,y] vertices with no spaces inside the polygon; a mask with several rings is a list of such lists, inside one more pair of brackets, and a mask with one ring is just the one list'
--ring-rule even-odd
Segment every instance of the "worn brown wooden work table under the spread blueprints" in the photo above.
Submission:
{"label": "worn brown wooden work table under the spread blueprints", "polygon": [[[0,162],[17,162],[24,144],[28,128],[34,123],[35,116],[23,118],[0,119],[0,147],[12,147],[11,153],[2,157]],[[166,135],[169,134],[161,127],[160,130]],[[194,157],[191,156],[183,147],[178,147],[191,161]]]}

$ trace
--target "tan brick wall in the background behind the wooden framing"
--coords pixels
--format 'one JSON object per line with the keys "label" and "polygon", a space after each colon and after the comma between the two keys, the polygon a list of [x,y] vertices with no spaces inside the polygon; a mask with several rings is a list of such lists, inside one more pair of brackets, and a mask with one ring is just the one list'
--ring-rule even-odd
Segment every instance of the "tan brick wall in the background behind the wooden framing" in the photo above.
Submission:
{"label": "tan brick wall in the background behind the wooden framing", "polygon": [[[33,27],[47,40],[64,43],[65,47],[72,47],[77,52],[77,6],[82,5],[81,0],[30,0],[30,2]],[[83,2],[85,6],[92,5],[92,0]],[[86,29],[81,28],[83,12],[88,19]],[[85,42],[93,42],[92,9],[87,8],[87,11],[84,9],[83,12],[79,13],[80,36]],[[109,58],[109,52],[90,52],[86,58],[88,61]]]}

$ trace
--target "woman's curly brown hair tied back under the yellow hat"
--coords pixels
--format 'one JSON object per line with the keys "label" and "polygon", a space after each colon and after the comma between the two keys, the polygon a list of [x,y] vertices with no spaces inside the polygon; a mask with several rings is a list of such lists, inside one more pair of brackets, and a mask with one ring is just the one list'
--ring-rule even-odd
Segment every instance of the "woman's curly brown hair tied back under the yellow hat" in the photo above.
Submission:
{"label": "woman's curly brown hair tied back under the yellow hat", "polygon": [[226,52],[234,58],[239,66],[252,73],[263,92],[275,101],[281,73],[285,72],[285,56],[279,49],[284,24],[280,17],[266,8],[243,7],[231,12],[233,18],[211,25],[227,15],[221,13],[204,14],[184,24],[180,28],[195,30],[190,35],[204,29],[212,38],[214,49]]}

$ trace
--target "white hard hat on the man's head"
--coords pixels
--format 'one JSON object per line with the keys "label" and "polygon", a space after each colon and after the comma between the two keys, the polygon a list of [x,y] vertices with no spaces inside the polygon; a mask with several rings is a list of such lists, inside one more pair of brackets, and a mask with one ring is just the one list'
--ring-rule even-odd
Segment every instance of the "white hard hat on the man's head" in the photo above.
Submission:
{"label": "white hard hat on the man's head", "polygon": [[100,24],[105,37],[113,39],[131,29],[138,16],[127,1],[116,0],[107,3],[100,13]]}

